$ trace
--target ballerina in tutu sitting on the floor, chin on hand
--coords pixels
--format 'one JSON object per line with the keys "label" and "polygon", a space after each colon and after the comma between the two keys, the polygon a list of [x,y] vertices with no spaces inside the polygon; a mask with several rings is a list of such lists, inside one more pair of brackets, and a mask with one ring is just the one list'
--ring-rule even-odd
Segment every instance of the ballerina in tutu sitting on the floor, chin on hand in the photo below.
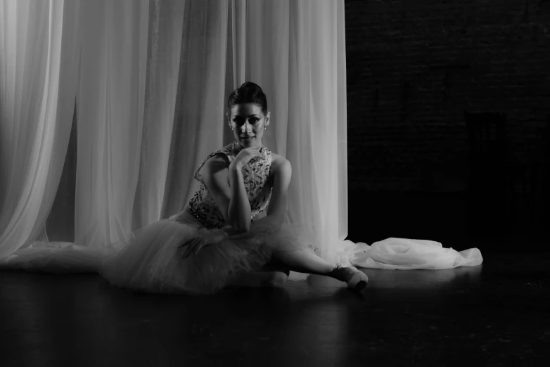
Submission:
{"label": "ballerina in tutu sitting on the floor, chin on hand", "polygon": [[260,86],[245,82],[227,107],[235,140],[198,167],[200,188],[188,205],[136,231],[99,273],[113,285],[145,292],[213,293],[243,278],[274,285],[290,271],[330,276],[363,290],[365,273],[322,259],[300,233],[283,228],[292,167],[262,143],[270,112]]}

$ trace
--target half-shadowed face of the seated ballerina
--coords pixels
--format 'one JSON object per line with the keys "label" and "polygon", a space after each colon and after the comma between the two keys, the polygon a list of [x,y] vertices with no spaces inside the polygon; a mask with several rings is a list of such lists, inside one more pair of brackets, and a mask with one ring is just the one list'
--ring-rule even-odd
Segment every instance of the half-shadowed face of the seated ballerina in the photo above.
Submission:
{"label": "half-shadowed face of the seated ballerina", "polygon": [[262,146],[264,129],[269,126],[269,114],[255,103],[234,105],[227,118],[236,141],[245,148]]}

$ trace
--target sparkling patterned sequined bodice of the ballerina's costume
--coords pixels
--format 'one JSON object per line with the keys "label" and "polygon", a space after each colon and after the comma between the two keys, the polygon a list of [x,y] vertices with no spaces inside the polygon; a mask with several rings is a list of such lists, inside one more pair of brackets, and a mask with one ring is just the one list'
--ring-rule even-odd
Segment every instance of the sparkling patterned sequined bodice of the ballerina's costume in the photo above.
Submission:
{"label": "sparkling patterned sequined bodice of the ballerina's costume", "polygon": [[[214,198],[208,192],[203,182],[203,175],[200,174],[200,169],[203,168],[203,165],[205,165],[205,162],[210,157],[217,154],[226,155],[229,162],[231,162],[242,149],[243,147],[237,141],[234,141],[228,146],[208,155],[195,172],[195,179],[200,181],[200,188],[189,202],[189,209],[193,216],[206,228],[222,228],[223,226],[227,226],[227,223],[222,216],[222,212],[219,211]],[[265,210],[271,198],[271,187],[268,184],[271,151],[262,146],[260,153],[264,155],[265,160],[253,158],[243,167],[243,181],[246,193],[248,194],[248,201],[250,202],[250,220]]]}

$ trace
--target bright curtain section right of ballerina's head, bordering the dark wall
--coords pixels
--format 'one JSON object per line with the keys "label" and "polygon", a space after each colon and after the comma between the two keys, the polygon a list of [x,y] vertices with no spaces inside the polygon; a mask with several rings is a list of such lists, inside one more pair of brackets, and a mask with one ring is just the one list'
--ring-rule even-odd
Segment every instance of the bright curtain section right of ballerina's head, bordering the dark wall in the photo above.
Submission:
{"label": "bright curtain section right of ballerina's head, bordering the dark wall", "polygon": [[264,143],[293,165],[289,220],[325,259],[347,236],[343,11],[332,0],[250,1],[246,22],[247,78],[271,103]]}

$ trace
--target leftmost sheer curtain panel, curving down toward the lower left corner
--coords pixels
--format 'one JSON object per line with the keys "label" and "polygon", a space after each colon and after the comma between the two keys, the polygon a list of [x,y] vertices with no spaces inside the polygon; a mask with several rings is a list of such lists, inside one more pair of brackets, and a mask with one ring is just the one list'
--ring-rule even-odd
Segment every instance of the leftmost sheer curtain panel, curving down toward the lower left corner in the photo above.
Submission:
{"label": "leftmost sheer curtain panel, curving down toward the lower left corner", "polygon": [[0,259],[42,230],[78,82],[79,1],[0,2]]}

